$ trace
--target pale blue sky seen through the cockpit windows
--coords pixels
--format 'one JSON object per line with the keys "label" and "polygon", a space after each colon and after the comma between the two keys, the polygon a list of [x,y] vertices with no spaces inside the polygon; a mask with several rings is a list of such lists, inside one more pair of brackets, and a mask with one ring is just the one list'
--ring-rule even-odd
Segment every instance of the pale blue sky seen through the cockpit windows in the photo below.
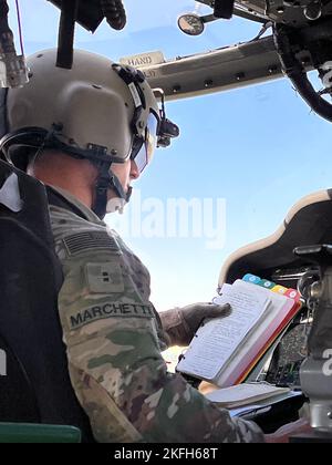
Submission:
{"label": "pale blue sky seen through the cockpit windows", "polygon": [[[25,53],[55,46],[58,10],[45,0],[20,0],[20,4]],[[176,20],[194,10],[194,1],[125,0],[125,31],[104,24],[91,35],[80,28],[76,46],[114,61],[153,50],[172,59],[258,33],[257,24],[235,19],[210,24],[201,37],[189,38],[177,29]],[[159,310],[209,300],[230,252],[272,234],[301,197],[332,186],[331,126],[310,113],[286,80],[172,102],[167,113],[179,124],[181,137],[172,148],[156,153],[137,184],[132,209],[123,218],[107,218],[148,266],[153,301]],[[224,199],[224,247],[210,250],[206,238],[126,235],[124,224],[135,215],[137,199],[151,197],[156,199],[153,205],[181,197],[210,199],[215,205]],[[147,215],[143,211],[145,219]]]}

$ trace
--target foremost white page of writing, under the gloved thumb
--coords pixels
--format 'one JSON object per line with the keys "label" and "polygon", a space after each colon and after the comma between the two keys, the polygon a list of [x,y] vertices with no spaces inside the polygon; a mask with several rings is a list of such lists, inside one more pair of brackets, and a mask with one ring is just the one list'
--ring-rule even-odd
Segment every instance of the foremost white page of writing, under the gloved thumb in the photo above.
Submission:
{"label": "foremost white page of writing, under the gloved thumb", "polygon": [[214,380],[222,366],[243,343],[256,323],[266,311],[269,299],[255,288],[235,289],[226,287],[216,303],[230,303],[232,312],[227,318],[208,321],[197,331],[177,371],[205,380]]}

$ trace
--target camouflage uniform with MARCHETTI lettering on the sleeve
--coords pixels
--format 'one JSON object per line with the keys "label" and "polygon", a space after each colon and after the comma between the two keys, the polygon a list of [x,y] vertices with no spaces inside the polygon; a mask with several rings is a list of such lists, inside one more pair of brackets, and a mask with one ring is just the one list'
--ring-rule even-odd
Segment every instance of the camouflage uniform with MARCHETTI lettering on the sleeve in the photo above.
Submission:
{"label": "camouflage uniform with MARCHETTI lettering on the sleeve", "polygon": [[71,381],[98,442],[260,442],[258,426],[231,420],[167,372],[165,338],[149,302],[149,273],[90,209],[51,206],[63,266],[59,294]]}

